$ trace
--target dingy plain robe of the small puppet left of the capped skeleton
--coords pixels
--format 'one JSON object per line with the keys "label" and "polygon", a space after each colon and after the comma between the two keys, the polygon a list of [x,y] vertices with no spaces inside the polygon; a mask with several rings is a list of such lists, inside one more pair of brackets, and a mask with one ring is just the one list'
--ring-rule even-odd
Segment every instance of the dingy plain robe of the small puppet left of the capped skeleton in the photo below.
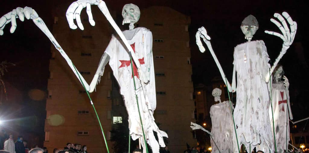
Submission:
{"label": "dingy plain robe of the small puppet left of the capped skeleton", "polygon": [[[233,106],[232,106],[233,107]],[[233,137],[235,133],[233,130],[233,118],[231,114],[231,107],[229,101],[215,104],[210,107],[211,117],[211,133],[214,135],[214,141],[210,139],[211,152],[221,153],[233,151]]]}

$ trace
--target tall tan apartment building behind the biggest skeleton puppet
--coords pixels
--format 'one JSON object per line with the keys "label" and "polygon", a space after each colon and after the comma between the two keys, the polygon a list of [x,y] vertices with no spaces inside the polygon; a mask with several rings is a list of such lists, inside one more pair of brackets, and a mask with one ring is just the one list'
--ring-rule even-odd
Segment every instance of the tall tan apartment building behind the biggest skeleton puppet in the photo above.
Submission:
{"label": "tall tan apartment building behind the biggest skeleton puppet", "polygon": [[[89,25],[86,11],[82,11],[81,20],[85,30],[70,30],[66,17],[62,15],[66,8],[57,9],[59,11],[55,14],[52,33],[87,83],[90,83],[114,30],[99,9],[94,7],[95,26]],[[118,20],[121,12],[111,14],[120,25]],[[190,122],[194,121],[188,33],[190,17],[169,7],[151,6],[141,9],[137,24],[150,29],[153,34],[157,93],[154,117],[160,123],[160,129],[169,136],[169,150],[184,151],[187,143],[196,145],[190,129]],[[85,90],[54,46],[51,46],[51,52],[44,146],[52,151],[53,148],[62,149],[70,142],[87,145],[89,153],[107,152]],[[90,96],[111,149],[109,131],[113,123],[119,123],[126,117],[127,112],[109,65],[106,65],[96,92]]]}

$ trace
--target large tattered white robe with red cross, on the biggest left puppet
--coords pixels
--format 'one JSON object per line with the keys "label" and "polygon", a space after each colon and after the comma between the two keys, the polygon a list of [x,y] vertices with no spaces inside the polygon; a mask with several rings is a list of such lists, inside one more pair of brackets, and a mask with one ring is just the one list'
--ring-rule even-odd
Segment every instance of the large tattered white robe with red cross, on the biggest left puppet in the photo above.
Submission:
{"label": "large tattered white robe with red cross, on the biggest left puppet", "polygon": [[[136,94],[142,117],[142,123],[147,143],[154,153],[159,153],[159,144],[165,147],[163,136],[167,137],[164,131],[160,131],[155,123],[153,111],[156,108],[156,91],[155,91],[155,73],[152,55],[152,33],[146,28],[138,27],[133,30],[125,30],[122,32],[129,44],[138,57],[141,69],[146,75],[149,82],[145,89],[142,89],[137,68],[133,62],[133,72],[130,63],[129,51],[123,42],[112,35],[112,39],[105,50],[110,56],[109,65],[113,70],[113,74],[119,84],[120,94],[123,96],[125,107],[129,115],[129,130],[133,140],[141,139],[143,152],[146,153],[146,144],[143,139],[142,126],[138,114],[138,105],[135,97],[133,77],[135,78]],[[137,61],[135,61],[137,62]],[[146,95],[146,96],[145,96]],[[159,143],[156,141],[153,131],[157,132]]]}

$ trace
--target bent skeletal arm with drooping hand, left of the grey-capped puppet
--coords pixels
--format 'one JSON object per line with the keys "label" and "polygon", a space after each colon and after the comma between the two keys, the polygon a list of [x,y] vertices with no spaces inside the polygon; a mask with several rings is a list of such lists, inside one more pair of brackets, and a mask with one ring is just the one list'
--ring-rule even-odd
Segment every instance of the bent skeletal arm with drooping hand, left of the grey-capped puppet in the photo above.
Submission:
{"label": "bent skeletal arm with drooping hand, left of the grey-capped puppet", "polygon": [[232,82],[232,87],[229,83],[229,81],[226,79],[226,76],[222,70],[222,67],[218,61],[218,58],[217,56],[214,54],[214,50],[212,49],[212,46],[211,46],[211,43],[210,43],[210,36],[207,35],[207,31],[205,30],[205,28],[202,26],[201,28],[198,29],[196,35],[196,44],[199,48],[199,50],[204,53],[205,52],[205,47],[203,46],[202,42],[201,42],[201,38],[203,38],[203,41],[206,43],[211,55],[213,56],[214,58],[214,61],[216,62],[217,66],[218,66],[218,69],[220,71],[220,74],[221,74],[221,77],[223,79],[223,82],[225,83],[226,87],[228,88],[228,90],[230,92],[235,92],[236,91],[236,83],[235,83],[235,66],[233,68],[233,82]]}

